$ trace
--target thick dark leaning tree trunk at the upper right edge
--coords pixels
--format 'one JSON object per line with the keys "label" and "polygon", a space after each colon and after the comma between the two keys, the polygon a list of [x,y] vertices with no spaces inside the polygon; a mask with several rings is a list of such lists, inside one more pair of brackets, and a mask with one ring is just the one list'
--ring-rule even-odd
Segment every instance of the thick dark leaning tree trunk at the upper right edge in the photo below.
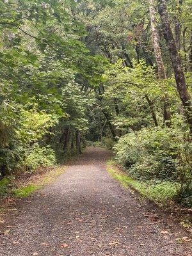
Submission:
{"label": "thick dark leaning tree trunk at the upper right edge", "polygon": [[180,60],[179,53],[177,51],[177,45],[173,37],[168,10],[164,0],[158,0],[158,12],[159,15],[161,16],[161,23],[163,26],[163,33],[164,38],[166,40],[166,45],[168,47],[168,51],[170,52],[170,58],[172,61],[172,66],[175,74],[175,81],[177,83],[177,91],[179,92],[180,100],[182,101],[186,113],[186,118],[188,120],[189,129],[192,133],[191,95],[189,94],[188,88],[186,86],[186,80],[182,69],[182,63]]}

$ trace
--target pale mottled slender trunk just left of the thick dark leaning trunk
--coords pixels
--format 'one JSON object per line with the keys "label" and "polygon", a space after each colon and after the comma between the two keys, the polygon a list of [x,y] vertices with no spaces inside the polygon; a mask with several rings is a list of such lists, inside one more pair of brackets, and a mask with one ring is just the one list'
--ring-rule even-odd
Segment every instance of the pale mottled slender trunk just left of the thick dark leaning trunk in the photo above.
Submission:
{"label": "pale mottled slender trunk just left of the thick dark leaning trunk", "polygon": [[[150,6],[149,6],[149,13],[150,13],[150,24],[151,24],[151,30],[152,30],[152,40],[154,44],[154,53],[156,56],[156,62],[157,62],[157,68],[158,68],[158,74],[159,79],[166,79],[166,72],[163,65],[163,59],[161,55],[161,48],[159,45],[159,35],[156,28],[156,10],[154,6],[154,0],[148,0]],[[170,104],[168,99],[168,93],[166,92],[166,88],[163,88],[164,90],[164,96],[163,96],[163,119],[164,124],[168,127],[170,127]]]}

